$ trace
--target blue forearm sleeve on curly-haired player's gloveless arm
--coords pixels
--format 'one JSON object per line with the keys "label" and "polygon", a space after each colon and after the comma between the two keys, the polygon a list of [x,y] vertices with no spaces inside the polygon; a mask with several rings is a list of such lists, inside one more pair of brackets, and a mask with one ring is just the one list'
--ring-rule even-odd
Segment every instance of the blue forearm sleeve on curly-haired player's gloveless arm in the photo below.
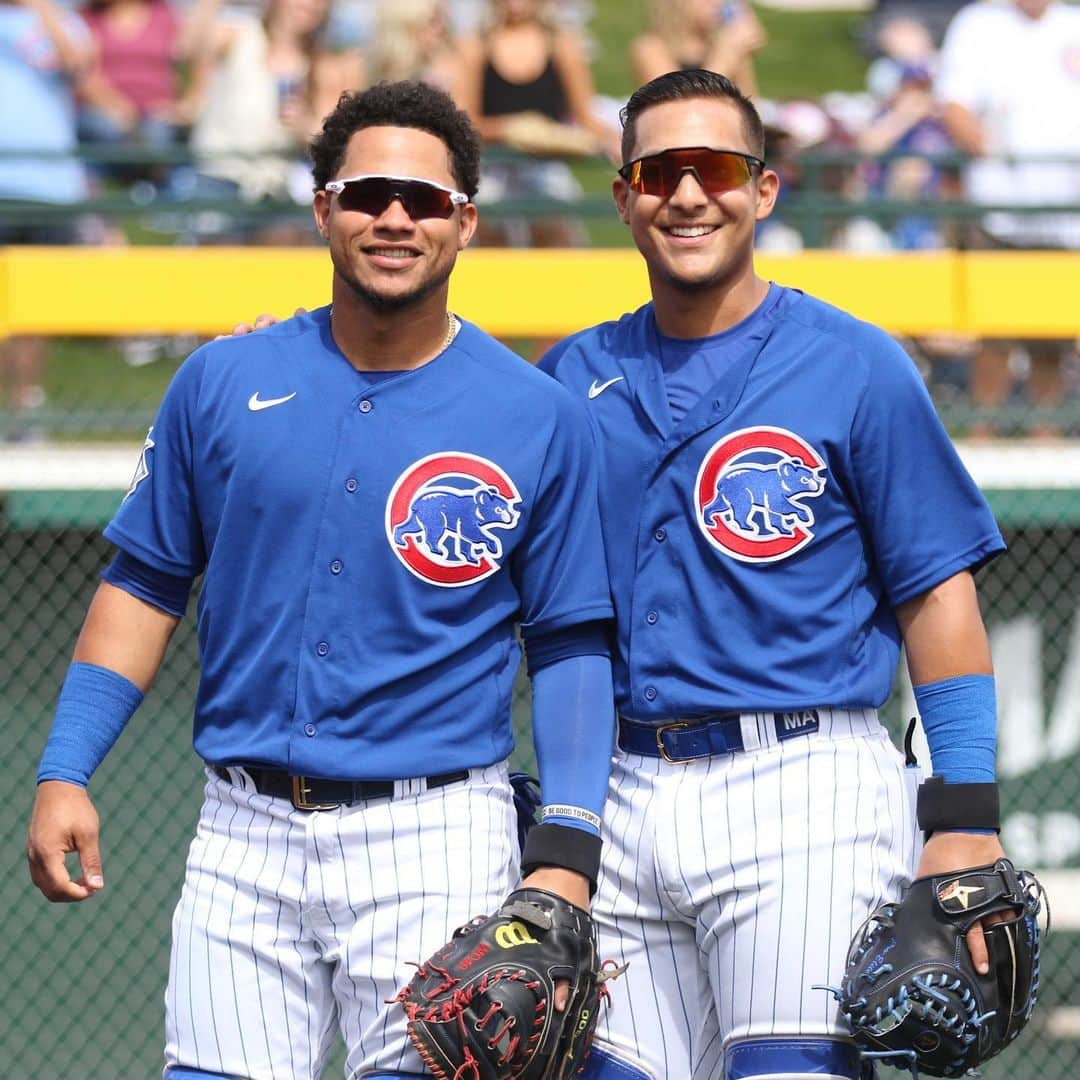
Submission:
{"label": "blue forearm sleeve on curly-haired player's gloveless arm", "polygon": [[141,701],[143,691],[123,675],[97,664],[71,664],[38,766],[38,783],[66,780],[85,787]]}

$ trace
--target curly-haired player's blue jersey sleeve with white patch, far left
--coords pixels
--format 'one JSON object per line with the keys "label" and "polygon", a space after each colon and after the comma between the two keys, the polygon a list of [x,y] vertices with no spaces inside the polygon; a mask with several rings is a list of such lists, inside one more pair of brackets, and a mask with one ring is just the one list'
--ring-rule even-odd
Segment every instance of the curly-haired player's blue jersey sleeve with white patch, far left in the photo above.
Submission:
{"label": "curly-haired player's blue jersey sleeve with white patch, far left", "polygon": [[176,373],[146,442],[120,509],[105,536],[122,551],[163,573],[195,578],[206,567],[199,519],[194,417],[202,352]]}

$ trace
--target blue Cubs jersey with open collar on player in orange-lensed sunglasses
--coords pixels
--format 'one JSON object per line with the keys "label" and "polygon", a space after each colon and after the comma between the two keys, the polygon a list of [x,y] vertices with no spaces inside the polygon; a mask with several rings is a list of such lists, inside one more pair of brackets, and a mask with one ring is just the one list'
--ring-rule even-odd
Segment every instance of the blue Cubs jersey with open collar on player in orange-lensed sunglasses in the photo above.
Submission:
{"label": "blue Cubs jersey with open collar on player in orange-lensed sunglasses", "polygon": [[880,705],[893,609],[1004,548],[888,335],[793,289],[760,310],[677,423],[651,305],[541,363],[596,431],[634,718]]}

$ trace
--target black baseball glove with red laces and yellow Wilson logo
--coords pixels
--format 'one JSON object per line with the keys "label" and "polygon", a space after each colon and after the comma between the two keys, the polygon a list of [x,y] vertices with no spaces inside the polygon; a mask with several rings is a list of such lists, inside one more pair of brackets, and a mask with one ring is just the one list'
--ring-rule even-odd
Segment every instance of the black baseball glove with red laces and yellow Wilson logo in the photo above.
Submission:
{"label": "black baseball glove with red laces and yellow Wilson logo", "polygon": [[[460,927],[399,995],[440,1080],[562,1080],[581,1071],[604,985],[589,913],[542,889],[512,892]],[[563,1012],[555,982],[569,982]]]}

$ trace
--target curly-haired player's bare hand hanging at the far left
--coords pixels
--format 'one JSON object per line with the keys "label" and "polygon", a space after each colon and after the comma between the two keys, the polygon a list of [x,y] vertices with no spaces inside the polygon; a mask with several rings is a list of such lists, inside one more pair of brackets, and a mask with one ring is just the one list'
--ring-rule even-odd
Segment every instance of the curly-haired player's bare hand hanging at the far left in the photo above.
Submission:
{"label": "curly-haired player's bare hand hanging at the far left", "polygon": [[[30,863],[30,880],[48,900],[54,903],[86,900],[105,887],[97,836],[97,811],[84,787],[63,780],[38,784],[26,858]],[[71,880],[64,863],[70,851],[79,853],[82,877],[78,881]]]}

